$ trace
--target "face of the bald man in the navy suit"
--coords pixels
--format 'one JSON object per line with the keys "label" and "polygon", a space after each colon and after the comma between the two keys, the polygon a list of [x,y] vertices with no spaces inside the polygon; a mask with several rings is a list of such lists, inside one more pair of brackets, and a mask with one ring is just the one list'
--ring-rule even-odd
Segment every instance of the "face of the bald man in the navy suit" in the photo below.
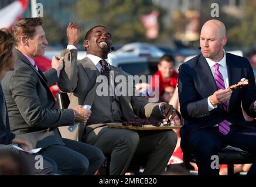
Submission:
{"label": "face of the bald man in the navy suit", "polygon": [[211,58],[213,61],[221,60],[226,40],[226,37],[220,37],[217,27],[204,26],[200,35],[200,47],[203,56]]}

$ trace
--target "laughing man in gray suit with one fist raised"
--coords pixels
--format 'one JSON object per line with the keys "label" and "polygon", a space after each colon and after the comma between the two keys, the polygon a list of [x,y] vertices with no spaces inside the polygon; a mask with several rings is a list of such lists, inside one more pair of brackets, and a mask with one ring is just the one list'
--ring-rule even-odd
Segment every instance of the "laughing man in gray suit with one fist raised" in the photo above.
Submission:
{"label": "laughing man in gray suit with one fist raised", "polygon": [[[70,23],[67,27],[68,38],[74,33],[79,36],[75,30],[80,30],[79,26]],[[69,107],[91,105],[92,113],[86,124],[83,141],[99,147],[105,155],[111,155],[110,175],[124,175],[132,159],[137,156],[148,156],[144,175],[162,174],[176,146],[174,131],[112,129],[106,123],[129,122],[135,116],[162,118],[165,115],[173,118],[174,108],[167,103],[149,103],[142,96],[98,95],[96,79],[99,75],[105,75],[108,79],[111,70],[115,77],[122,75],[128,80],[128,74],[107,62],[112,45],[107,27],[95,26],[87,32],[84,40],[87,57],[83,60],[77,60],[75,46],[78,39],[75,45],[69,43],[68,49],[62,51],[65,65],[58,84],[62,91],[69,92]],[[108,79],[106,84],[111,87],[114,83]]]}

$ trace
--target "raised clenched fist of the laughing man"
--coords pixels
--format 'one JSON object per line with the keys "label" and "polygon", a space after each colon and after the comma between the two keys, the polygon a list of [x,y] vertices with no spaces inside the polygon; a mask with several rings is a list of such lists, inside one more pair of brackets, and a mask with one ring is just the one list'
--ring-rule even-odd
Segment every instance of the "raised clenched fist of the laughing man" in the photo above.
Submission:
{"label": "raised clenched fist of the laughing man", "polygon": [[80,39],[81,28],[77,23],[71,22],[67,26],[67,40],[69,45],[77,47],[77,44]]}

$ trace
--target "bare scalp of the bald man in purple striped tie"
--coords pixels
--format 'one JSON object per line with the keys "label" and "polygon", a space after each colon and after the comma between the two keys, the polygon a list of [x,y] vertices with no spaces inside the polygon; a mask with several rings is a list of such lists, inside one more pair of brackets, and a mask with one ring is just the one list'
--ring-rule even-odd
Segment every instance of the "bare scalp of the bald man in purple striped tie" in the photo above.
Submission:
{"label": "bare scalp of the bald man in purple striped tie", "polygon": [[207,32],[208,30],[212,30],[212,32],[215,32],[217,35],[216,37],[226,37],[226,27],[223,22],[217,19],[211,19],[204,23],[201,33]]}

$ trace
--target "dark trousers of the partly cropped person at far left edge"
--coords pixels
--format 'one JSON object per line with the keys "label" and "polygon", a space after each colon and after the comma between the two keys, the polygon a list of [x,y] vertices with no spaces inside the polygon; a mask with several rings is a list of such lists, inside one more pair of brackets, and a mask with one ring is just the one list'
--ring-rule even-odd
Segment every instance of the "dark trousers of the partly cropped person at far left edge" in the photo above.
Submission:
{"label": "dark trousers of the partly cropped person at far left edge", "polygon": [[[39,154],[29,154],[24,151],[19,151],[16,148],[12,147],[12,144],[3,145],[0,144],[0,154],[16,154],[19,159],[19,163],[26,167],[25,175],[53,175],[57,174],[57,165],[56,163],[45,156],[43,157],[42,165],[38,165],[37,162],[40,161],[40,158],[36,156]],[[11,156],[11,155],[10,155]],[[36,167],[37,165],[37,167]]]}

